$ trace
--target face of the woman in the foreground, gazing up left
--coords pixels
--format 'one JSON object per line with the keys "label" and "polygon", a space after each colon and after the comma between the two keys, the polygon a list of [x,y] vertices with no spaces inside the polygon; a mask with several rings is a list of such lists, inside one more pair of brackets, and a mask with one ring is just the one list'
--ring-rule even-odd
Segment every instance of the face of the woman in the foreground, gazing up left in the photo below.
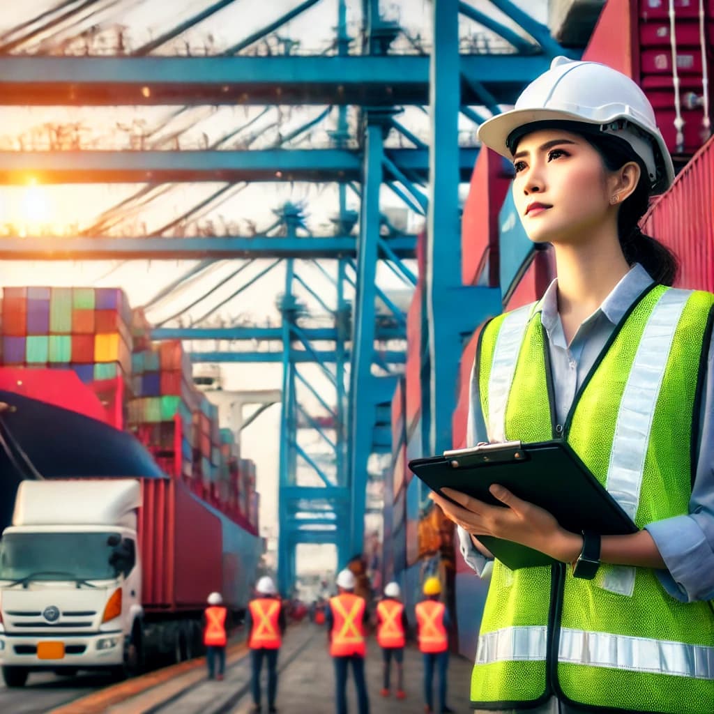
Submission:
{"label": "face of the woman in the foreground, gazing up left", "polygon": [[560,129],[526,134],[513,166],[513,198],[534,243],[579,243],[611,220],[616,177],[578,134]]}

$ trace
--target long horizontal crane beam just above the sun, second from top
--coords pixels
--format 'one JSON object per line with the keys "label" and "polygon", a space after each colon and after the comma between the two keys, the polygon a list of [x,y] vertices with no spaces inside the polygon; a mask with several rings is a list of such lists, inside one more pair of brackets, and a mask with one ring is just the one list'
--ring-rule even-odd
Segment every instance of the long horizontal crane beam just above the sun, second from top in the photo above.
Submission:
{"label": "long horizontal crane beam just above the sun, second from top", "polygon": [[[1,90],[0,90],[1,91]],[[427,149],[391,149],[389,159],[426,181]],[[461,149],[463,181],[478,149]],[[245,151],[0,151],[0,183],[170,183],[180,181],[358,181],[361,154],[350,149]]]}

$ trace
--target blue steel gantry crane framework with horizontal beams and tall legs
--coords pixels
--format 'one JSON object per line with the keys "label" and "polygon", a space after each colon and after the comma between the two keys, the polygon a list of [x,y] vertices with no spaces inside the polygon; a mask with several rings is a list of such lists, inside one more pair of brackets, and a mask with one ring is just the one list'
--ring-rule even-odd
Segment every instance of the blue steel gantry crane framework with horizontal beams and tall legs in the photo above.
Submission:
{"label": "blue steel gantry crane framework with horizontal beams and tall legs", "polygon": [[[174,221],[167,230],[151,235],[116,236],[98,223],[94,231],[75,236],[0,236],[0,258],[200,259],[162,296],[213,261],[236,261],[237,276],[258,258],[274,259],[258,276],[241,283],[231,298],[282,266],[279,326],[208,327],[205,318],[216,306],[191,326],[156,326],[154,336],[241,345],[194,351],[194,361],[281,363],[278,583],[285,593],[295,578],[298,543],[333,543],[339,565],[361,552],[368,484],[383,476],[372,457],[391,451],[390,404],[405,361],[406,315],[380,287],[378,266],[386,266],[413,287],[418,276],[411,261],[418,239],[390,223],[381,206],[383,187],[426,221],[426,273],[419,276],[425,286],[423,444],[425,451],[435,453],[451,446],[454,379],[463,336],[488,313],[499,311],[501,301],[495,288],[461,284],[458,187],[470,178],[478,148],[459,146],[459,116],[481,123],[501,106],[512,104],[553,56],[573,56],[573,51],[560,47],[546,26],[512,0],[491,0],[493,9],[508,16],[511,24],[467,2],[438,0],[431,6],[431,48],[426,51],[415,44],[413,54],[397,54],[392,46],[404,29],[383,16],[378,0],[361,1],[358,38],[348,34],[348,0],[338,0],[336,40],[327,54],[298,56],[289,54],[289,48],[277,56],[241,54],[319,2],[307,0],[296,2],[290,12],[222,54],[151,54],[231,1],[213,4],[130,56],[16,55],[8,54],[15,45],[6,43],[0,46],[0,104],[313,104],[336,108],[330,148],[283,148],[315,121],[325,119],[326,110],[263,149],[252,149],[250,142],[241,149],[226,149],[221,141],[193,151],[157,151],[151,146],[136,151],[0,151],[0,182],[23,183],[31,174],[41,183],[139,182],[149,183],[151,190],[169,181],[221,181],[226,187],[214,194],[218,196],[243,181],[329,181],[338,184],[339,196],[333,235],[312,235],[301,206],[288,203],[276,211],[270,228],[254,235],[179,235],[169,230]],[[477,23],[499,36],[500,51],[461,52],[460,22]],[[398,121],[405,106],[428,111],[428,141]],[[356,126],[348,122],[348,107],[358,107]],[[388,145],[387,136],[395,132],[408,148]],[[350,192],[359,198],[358,213],[348,210]],[[333,294],[318,293],[306,280],[306,261],[317,266]],[[305,298],[298,293],[320,306],[331,326],[306,325]],[[380,311],[377,303],[383,306]],[[468,309],[454,309],[455,305]],[[256,340],[269,348],[244,347]],[[306,365],[317,366],[318,381],[306,376]],[[318,404],[318,411],[308,403]],[[303,430],[310,430],[313,442],[320,444],[316,451],[301,438]]]}

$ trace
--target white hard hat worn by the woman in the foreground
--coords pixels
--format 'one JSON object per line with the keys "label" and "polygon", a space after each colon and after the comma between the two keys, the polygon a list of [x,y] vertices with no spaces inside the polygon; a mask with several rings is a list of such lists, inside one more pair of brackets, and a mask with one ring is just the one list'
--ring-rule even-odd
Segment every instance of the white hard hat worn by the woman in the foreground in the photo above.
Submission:
{"label": "white hard hat worn by the woman in the foreground", "polygon": [[612,67],[555,57],[550,69],[523,90],[511,111],[479,126],[478,139],[510,159],[509,136],[540,121],[590,124],[592,129],[623,139],[642,159],[650,185],[658,193],[674,180],[672,158],[650,101],[632,79]]}

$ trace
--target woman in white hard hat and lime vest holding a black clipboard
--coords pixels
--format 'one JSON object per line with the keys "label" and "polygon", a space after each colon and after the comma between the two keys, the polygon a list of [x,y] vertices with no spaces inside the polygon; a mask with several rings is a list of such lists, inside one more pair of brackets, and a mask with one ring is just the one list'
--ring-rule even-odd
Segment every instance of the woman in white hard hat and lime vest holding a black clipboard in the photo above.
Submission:
{"label": "woman in white hard hat and lime vest holding a black clipboard", "polygon": [[521,221],[553,245],[558,279],[483,329],[471,443],[565,439],[640,531],[570,533],[497,485],[506,508],[433,495],[478,573],[479,535],[559,561],[494,561],[472,706],[711,712],[714,296],[668,288],[675,259],[637,227],[673,180],[652,108],[619,72],[557,58],[479,138],[513,160]]}

